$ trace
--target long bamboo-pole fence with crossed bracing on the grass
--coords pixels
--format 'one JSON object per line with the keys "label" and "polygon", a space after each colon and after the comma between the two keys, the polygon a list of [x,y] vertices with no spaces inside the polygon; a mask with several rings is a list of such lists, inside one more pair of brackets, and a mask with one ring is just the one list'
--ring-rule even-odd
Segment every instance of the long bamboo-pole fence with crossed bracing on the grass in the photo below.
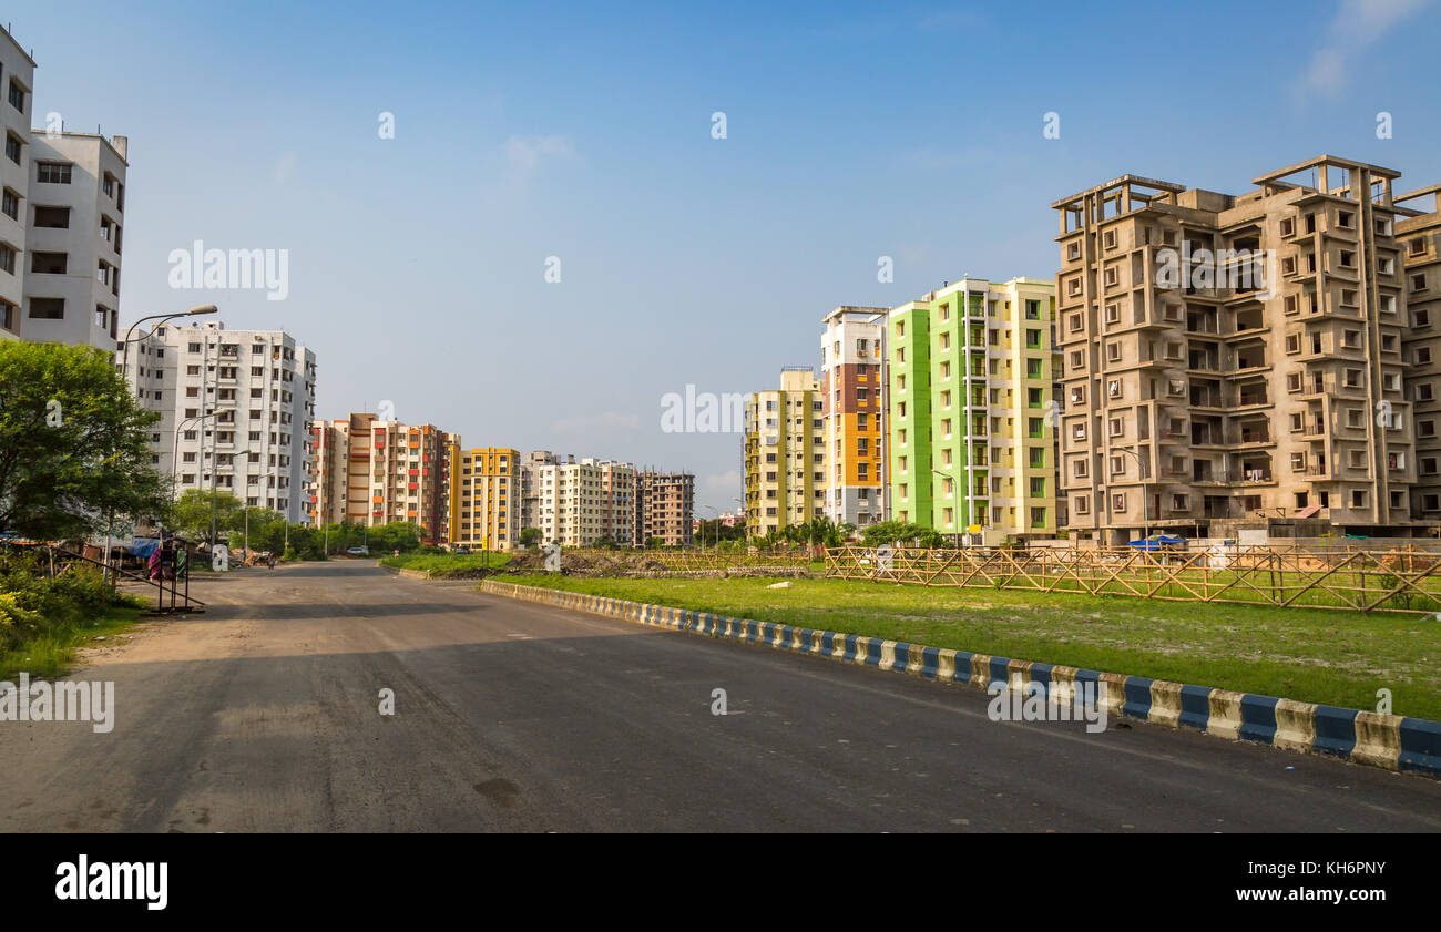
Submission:
{"label": "long bamboo-pole fence with crossed bracing on the grass", "polygon": [[833,549],[826,575],[922,586],[1130,595],[1172,602],[1441,612],[1441,553],[1323,547]]}

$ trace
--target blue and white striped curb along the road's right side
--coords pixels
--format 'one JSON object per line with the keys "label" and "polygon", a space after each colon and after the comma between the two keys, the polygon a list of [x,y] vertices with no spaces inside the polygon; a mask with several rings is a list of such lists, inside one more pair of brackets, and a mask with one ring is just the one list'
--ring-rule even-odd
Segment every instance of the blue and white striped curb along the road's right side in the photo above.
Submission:
{"label": "blue and white striped curb along the road's right side", "polygon": [[523,586],[514,582],[486,579],[480,583],[480,589],[526,602],[542,602],[745,644],[764,644],[777,650],[816,654],[829,660],[909,673],[942,683],[963,683],[976,689],[990,689],[993,684],[1009,689],[1010,677],[1019,674],[1022,680],[1042,684],[1048,700],[1053,693],[1069,699],[1076,684],[1094,683],[1097,703],[1108,716],[1172,727],[1185,726],[1231,740],[1334,756],[1388,771],[1441,776],[1441,722],[1428,719],[1340,709],[1257,693],[1078,670],[904,641],[882,641],[856,634],[795,628],[771,621],[731,618],[602,595]]}

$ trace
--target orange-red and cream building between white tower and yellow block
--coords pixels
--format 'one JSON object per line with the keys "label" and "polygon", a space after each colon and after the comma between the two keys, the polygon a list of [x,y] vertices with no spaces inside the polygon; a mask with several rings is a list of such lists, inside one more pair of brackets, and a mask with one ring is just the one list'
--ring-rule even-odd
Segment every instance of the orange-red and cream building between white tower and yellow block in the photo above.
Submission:
{"label": "orange-red and cream building between white tower and yellow block", "polygon": [[460,436],[372,413],[311,425],[310,521],[419,524],[425,543],[450,540],[450,464]]}

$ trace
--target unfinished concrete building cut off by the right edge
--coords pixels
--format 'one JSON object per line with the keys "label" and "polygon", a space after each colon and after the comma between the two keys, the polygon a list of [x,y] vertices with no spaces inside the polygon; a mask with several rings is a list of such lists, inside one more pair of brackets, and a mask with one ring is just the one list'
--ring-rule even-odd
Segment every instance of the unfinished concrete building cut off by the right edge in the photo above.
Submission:
{"label": "unfinished concrete building cut off by the right edge", "polygon": [[1435,529],[1441,526],[1441,184],[1399,194],[1395,206],[1411,314],[1401,341],[1417,431],[1411,517]]}

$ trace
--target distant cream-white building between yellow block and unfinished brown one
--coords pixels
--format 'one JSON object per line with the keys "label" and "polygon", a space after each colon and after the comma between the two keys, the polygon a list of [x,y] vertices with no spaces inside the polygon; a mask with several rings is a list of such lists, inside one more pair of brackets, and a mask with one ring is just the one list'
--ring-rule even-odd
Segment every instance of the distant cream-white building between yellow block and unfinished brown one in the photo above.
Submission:
{"label": "distant cream-white building between yellow block and unfinished brown one", "polygon": [[635,533],[635,467],[586,457],[536,465],[542,540],[563,547],[598,542],[631,546]]}

